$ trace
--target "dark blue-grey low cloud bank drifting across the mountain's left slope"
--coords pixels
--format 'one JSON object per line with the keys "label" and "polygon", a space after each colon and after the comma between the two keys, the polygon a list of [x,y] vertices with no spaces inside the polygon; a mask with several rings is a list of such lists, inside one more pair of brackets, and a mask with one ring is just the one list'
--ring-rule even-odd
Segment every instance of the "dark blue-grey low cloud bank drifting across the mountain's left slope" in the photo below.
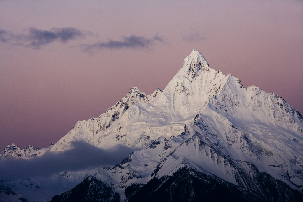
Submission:
{"label": "dark blue-grey low cloud bank drifting across the mountain's left slope", "polygon": [[62,153],[47,152],[30,160],[7,158],[0,161],[0,180],[20,177],[49,176],[63,171],[114,166],[121,163],[134,148],[117,145],[109,150],[99,149],[85,142],[73,142],[73,149]]}

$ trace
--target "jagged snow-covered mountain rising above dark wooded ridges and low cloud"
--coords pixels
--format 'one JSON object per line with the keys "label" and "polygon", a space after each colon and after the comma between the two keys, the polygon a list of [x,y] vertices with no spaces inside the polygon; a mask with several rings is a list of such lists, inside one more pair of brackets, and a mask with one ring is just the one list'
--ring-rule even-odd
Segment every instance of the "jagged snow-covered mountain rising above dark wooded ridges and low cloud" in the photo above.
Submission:
{"label": "jagged snow-covered mountain rising above dark wooded ridges and low cloud", "polygon": [[[77,141],[102,149],[121,144],[137,148],[115,167],[59,174],[62,178],[58,183],[82,176],[77,181],[80,183],[91,175],[86,184],[99,180],[101,187],[111,187],[108,200],[117,200],[114,193],[118,193],[120,200],[135,201],[138,194],[145,193],[144,187],[151,186],[151,180],[162,180],[161,185],[153,187],[156,192],[168,179],[184,172],[182,169],[193,179],[203,179],[203,186],[206,181],[225,184],[229,187],[226,193],[241,193],[237,196],[244,201],[303,199],[301,114],[283,98],[255,86],[244,88],[231,74],[225,76],[209,68],[195,49],[163,92],[158,88],[145,95],[133,87],[98,118],[78,121],[53,146],[26,155],[25,151],[19,152],[18,157],[60,154],[71,150]],[[10,147],[16,146],[9,145],[0,159],[17,157],[19,153],[13,153]],[[3,183],[12,186],[12,180]],[[136,191],[129,195],[134,184],[138,185]],[[26,192],[24,187],[16,190]],[[192,201],[200,193],[194,190]],[[63,200],[72,193],[60,197]],[[45,194],[47,200],[50,198]]]}

